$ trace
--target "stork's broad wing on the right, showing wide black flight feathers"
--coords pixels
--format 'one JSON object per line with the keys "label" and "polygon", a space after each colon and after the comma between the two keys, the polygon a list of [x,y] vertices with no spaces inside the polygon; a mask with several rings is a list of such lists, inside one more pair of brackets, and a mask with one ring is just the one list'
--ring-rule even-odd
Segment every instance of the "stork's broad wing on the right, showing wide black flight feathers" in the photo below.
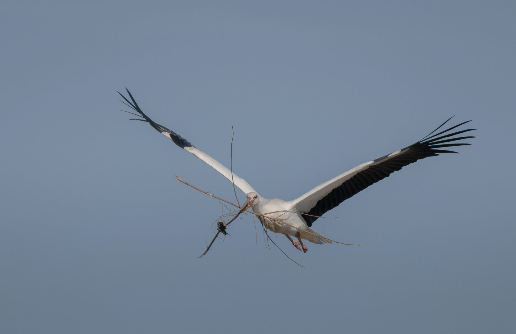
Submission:
{"label": "stork's broad wing on the right, showing wide black flight feathers", "polygon": [[[451,117],[446,120],[446,122],[450,119]],[[446,122],[442,123],[439,128],[446,124]],[[308,226],[312,226],[312,223],[318,217],[324,215],[327,211],[335,208],[335,206],[350,198],[354,194],[357,194],[360,192],[360,190],[363,190],[373,183],[388,177],[392,172],[400,170],[401,167],[412,164],[417,160],[426,158],[427,156],[439,155],[440,153],[458,153],[455,151],[442,150],[444,147],[471,145],[457,143],[455,141],[474,138],[473,136],[455,138],[448,137],[476,129],[466,129],[445,134],[448,131],[457,128],[457,126],[467,122],[470,121],[462,122],[429,137],[432,133],[439,129],[437,128],[428,136],[424,137],[415,144],[412,144],[411,146],[391,154],[384,155],[373,161],[366,162],[365,164],[350,169],[347,172],[342,173],[325,183],[319,184],[310,190],[310,192],[291,201],[292,208],[295,208],[295,211],[297,212],[306,213],[307,215],[302,214],[302,217],[305,221],[307,221]]]}

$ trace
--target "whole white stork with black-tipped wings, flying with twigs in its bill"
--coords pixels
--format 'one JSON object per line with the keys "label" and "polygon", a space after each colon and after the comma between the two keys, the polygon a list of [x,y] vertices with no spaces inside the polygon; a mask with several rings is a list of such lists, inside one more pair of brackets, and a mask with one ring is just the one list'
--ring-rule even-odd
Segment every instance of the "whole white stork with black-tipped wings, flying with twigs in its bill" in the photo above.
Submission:
{"label": "whole white stork with black-tipped wings, flying with twigs in its bill", "polygon": [[[476,130],[466,129],[449,133],[449,131],[457,128],[458,126],[470,122],[466,121],[430,136],[449,121],[451,119],[450,117],[446,122],[441,124],[439,128],[432,131],[420,141],[391,154],[387,154],[362,165],[358,165],[357,167],[350,169],[325,183],[319,184],[308,193],[301,195],[294,200],[284,201],[278,198],[263,198],[249,185],[249,183],[244,179],[237,177],[234,173],[232,175],[232,172],[228,168],[224,167],[214,158],[193,146],[188,140],[179,134],[176,134],[172,130],[165,128],[165,126],[159,125],[151,120],[141,111],[128,90],[127,93],[129,94],[132,103],[120,92],[118,93],[128,103],[127,106],[136,110],[136,112],[144,118],[137,120],[149,122],[154,129],[172,139],[177,146],[197,156],[200,160],[204,161],[209,166],[212,166],[228,180],[233,181],[234,184],[247,195],[247,200],[241,208],[248,209],[250,207],[257,214],[267,214],[269,217],[276,218],[277,220],[273,220],[259,216],[262,224],[267,229],[273,232],[283,233],[297,249],[302,250],[303,252],[306,252],[308,247],[301,241],[301,239],[308,240],[315,244],[331,244],[331,240],[311,229],[314,221],[324,213],[335,208],[335,206],[342,203],[344,200],[357,194],[360,190],[364,190],[373,183],[388,177],[392,172],[400,170],[408,164],[412,164],[417,160],[426,158],[427,156],[439,155],[440,153],[458,153],[455,151],[443,150],[442,148],[471,145],[458,143],[456,141],[474,138],[474,136],[450,137]],[[140,116],[137,114],[134,115]],[[283,222],[287,224],[284,224]],[[291,236],[296,237],[297,241],[294,241]]]}

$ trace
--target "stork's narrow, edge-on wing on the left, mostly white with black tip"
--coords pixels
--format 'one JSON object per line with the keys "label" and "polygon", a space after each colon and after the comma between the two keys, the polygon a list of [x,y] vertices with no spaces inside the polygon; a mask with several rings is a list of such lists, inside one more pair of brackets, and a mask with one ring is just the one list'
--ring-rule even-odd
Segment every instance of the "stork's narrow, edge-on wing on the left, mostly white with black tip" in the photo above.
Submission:
{"label": "stork's narrow, edge-on wing on the left, mostly white with black tip", "polygon": [[[125,90],[127,90],[127,88],[125,88]],[[154,129],[156,129],[160,133],[164,134],[168,138],[172,139],[172,141],[175,142],[175,144],[177,146],[179,146],[180,148],[185,149],[188,152],[190,152],[191,154],[197,156],[199,159],[204,161],[206,164],[212,166],[216,171],[221,173],[228,180],[234,181],[235,185],[240,190],[242,190],[245,194],[248,194],[250,192],[255,192],[253,187],[251,187],[249,185],[249,183],[246,182],[246,180],[237,177],[235,175],[235,173],[233,173],[233,178],[232,178],[231,177],[231,170],[226,168],[224,165],[222,165],[221,163],[216,161],[211,156],[207,155],[206,153],[202,152],[201,150],[199,150],[198,148],[193,146],[191,144],[191,142],[189,142],[188,140],[186,140],[182,136],[176,134],[175,132],[173,132],[170,129],[165,128],[165,126],[163,126],[163,125],[159,125],[158,123],[156,123],[152,119],[150,119],[147,115],[143,114],[143,112],[141,111],[140,107],[138,106],[138,104],[136,103],[136,101],[134,100],[133,96],[131,95],[131,93],[128,90],[127,90],[127,94],[129,94],[129,97],[131,98],[131,101],[133,101],[132,103],[129,100],[127,100],[119,91],[117,91],[117,93],[119,93],[120,96],[122,98],[124,98],[124,100],[127,101],[128,104],[122,101],[123,103],[125,103],[127,106],[129,106],[129,107],[133,108],[134,110],[136,110],[136,112],[138,114],[140,114],[144,118],[144,119],[138,119],[138,118],[132,118],[132,119],[136,119],[136,120],[144,121],[144,122],[149,122],[149,124],[151,124]],[[133,114],[133,113],[130,113],[130,114]],[[136,115],[136,114],[133,114],[133,115]],[[138,116],[138,115],[136,115],[136,116]]]}

